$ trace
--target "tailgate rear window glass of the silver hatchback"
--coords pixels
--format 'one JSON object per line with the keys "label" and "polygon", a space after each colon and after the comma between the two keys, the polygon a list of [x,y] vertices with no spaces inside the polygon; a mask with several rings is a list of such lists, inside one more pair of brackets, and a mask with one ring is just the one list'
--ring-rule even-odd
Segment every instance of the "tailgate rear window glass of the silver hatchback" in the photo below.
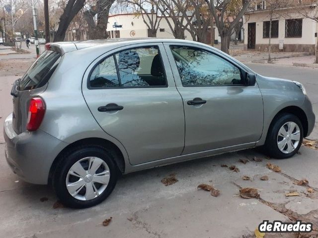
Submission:
{"label": "tailgate rear window glass of the silver hatchback", "polygon": [[31,90],[44,86],[61,60],[55,51],[45,51],[28,69],[20,80],[18,90]]}

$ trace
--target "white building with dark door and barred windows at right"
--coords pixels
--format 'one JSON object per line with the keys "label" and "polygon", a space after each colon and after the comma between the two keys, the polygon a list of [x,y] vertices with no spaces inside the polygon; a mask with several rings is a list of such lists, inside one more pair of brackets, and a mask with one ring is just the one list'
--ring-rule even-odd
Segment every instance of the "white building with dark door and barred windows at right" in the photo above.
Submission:
{"label": "white building with dark door and barred windows at right", "polygon": [[[315,6],[317,7],[317,6]],[[308,8],[315,14],[315,7]],[[244,49],[267,51],[269,38],[269,9],[263,7],[244,15]],[[295,8],[274,11],[271,30],[272,51],[315,53],[318,23],[296,13]]]}

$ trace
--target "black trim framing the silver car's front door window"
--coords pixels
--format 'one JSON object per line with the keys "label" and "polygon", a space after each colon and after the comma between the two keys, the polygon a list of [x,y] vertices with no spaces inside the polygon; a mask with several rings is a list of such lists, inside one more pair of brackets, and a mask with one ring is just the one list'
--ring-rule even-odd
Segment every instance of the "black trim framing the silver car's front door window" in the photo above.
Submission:
{"label": "black trim framing the silver car's front door window", "polygon": [[[228,60],[228,59],[222,57],[221,55],[215,54],[214,52],[211,52],[211,51],[209,51],[209,50],[207,50],[207,49],[203,49],[203,48],[196,47],[196,46],[179,45],[179,44],[169,44],[168,47],[169,47],[169,50],[171,51],[171,54],[172,54],[171,46],[176,46],[176,47],[184,47],[184,46],[185,46],[185,47],[190,47],[190,48],[198,49],[198,50],[201,50],[201,51],[206,51],[206,52],[211,53],[211,54],[213,54],[213,55],[215,55],[215,56],[218,56],[218,57],[220,57],[221,59],[228,61],[229,63],[231,63],[232,65],[234,65],[235,67],[237,67],[237,68],[239,69],[239,73],[240,73],[241,80],[243,79],[243,72],[246,73],[246,71],[243,70],[241,67],[239,67],[239,65],[237,65],[237,64],[231,62],[230,60]],[[174,59],[173,54],[172,54],[172,59],[173,59],[173,61],[174,61],[174,63],[175,63],[176,68],[178,69],[178,66],[177,66],[177,63],[176,63],[176,61],[175,61],[175,59]],[[177,70],[177,71],[178,71],[178,74],[179,74],[179,78],[180,78],[180,81],[181,81],[181,85],[182,85],[182,87],[185,87],[185,88],[189,88],[189,87],[192,87],[192,88],[193,88],[193,87],[229,87],[229,86],[231,86],[231,87],[241,87],[241,86],[246,86],[245,84],[234,84],[234,85],[233,85],[233,84],[220,84],[220,85],[184,85],[183,82],[182,82],[182,78],[181,78],[180,72],[179,72],[179,70]],[[242,72],[242,71],[243,71],[243,72]]]}

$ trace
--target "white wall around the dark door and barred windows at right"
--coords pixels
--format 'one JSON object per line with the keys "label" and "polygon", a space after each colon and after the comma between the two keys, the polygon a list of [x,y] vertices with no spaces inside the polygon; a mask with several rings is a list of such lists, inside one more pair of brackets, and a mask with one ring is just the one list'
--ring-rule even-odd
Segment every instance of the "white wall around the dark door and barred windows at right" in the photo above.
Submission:
{"label": "white wall around the dark door and barred windows at right", "polygon": [[[273,20],[279,20],[278,38],[271,38],[271,46],[274,51],[279,50],[279,41],[284,41],[284,51],[299,51],[315,53],[318,32],[318,23],[309,18],[303,19],[302,37],[285,37],[285,19],[302,18],[296,13],[288,13],[287,10],[278,13],[280,17],[273,17]],[[255,50],[267,51],[268,38],[263,38],[263,22],[269,21],[268,11],[255,11],[247,13],[244,16],[244,47],[247,49],[248,43],[248,23],[256,23]]]}

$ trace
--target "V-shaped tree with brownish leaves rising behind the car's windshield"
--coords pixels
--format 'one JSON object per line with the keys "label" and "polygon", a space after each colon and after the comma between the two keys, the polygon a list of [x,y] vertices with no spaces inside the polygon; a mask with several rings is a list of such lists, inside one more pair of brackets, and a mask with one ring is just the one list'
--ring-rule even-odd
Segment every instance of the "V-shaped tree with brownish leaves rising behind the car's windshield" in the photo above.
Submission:
{"label": "V-shaped tree with brownish leaves rising behind the car's windshield", "polygon": [[221,50],[229,53],[233,29],[250,5],[250,0],[205,0],[221,36]]}

